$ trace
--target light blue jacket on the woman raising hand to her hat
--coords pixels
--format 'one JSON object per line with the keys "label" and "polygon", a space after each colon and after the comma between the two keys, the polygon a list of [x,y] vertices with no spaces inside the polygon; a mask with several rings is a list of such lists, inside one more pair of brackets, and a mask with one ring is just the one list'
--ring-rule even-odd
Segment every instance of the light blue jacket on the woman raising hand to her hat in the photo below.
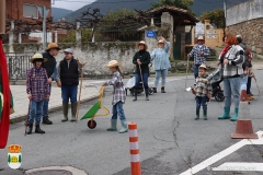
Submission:
{"label": "light blue jacket on the woman raising hand to her hat", "polygon": [[168,55],[170,46],[171,44],[167,42],[164,48],[156,48],[152,51],[151,60],[155,60],[155,70],[168,70],[171,68]]}

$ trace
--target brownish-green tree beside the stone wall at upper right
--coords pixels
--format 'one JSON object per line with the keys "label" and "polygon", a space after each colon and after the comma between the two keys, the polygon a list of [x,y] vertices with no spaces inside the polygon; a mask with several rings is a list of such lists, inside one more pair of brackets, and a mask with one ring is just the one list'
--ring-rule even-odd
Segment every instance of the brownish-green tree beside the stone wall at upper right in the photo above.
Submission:
{"label": "brownish-green tree beside the stone wall at upper right", "polygon": [[225,14],[222,9],[215,9],[213,11],[207,11],[202,13],[202,22],[205,20],[210,20],[210,23],[217,28],[224,28]]}

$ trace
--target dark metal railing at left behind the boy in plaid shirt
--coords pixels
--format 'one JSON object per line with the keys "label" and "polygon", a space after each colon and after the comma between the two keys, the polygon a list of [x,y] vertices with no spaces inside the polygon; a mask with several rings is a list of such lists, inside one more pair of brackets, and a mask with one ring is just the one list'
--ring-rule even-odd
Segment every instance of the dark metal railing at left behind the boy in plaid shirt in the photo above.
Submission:
{"label": "dark metal railing at left behind the boy in plaid shirt", "polygon": [[9,80],[25,80],[26,71],[32,68],[30,59],[34,52],[5,52],[8,69],[9,69]]}

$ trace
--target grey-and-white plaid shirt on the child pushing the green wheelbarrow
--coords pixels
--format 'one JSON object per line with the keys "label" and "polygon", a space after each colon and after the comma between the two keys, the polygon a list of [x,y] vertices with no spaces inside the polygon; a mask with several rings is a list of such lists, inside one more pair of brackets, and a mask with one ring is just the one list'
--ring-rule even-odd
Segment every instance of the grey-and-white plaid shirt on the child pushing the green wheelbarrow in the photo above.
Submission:
{"label": "grey-and-white plaid shirt on the child pushing the green wheelbarrow", "polygon": [[113,85],[113,101],[112,104],[115,105],[118,102],[125,103],[126,94],[123,84],[123,78],[118,71],[113,73],[112,80],[106,81],[105,85]]}

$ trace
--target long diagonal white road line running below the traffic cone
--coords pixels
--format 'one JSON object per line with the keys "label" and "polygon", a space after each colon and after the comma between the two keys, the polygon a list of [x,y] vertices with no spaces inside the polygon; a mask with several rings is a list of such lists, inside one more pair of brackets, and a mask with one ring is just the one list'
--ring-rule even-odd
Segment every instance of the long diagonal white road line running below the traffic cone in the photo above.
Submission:
{"label": "long diagonal white road line running below the traffic cone", "polygon": [[192,175],[195,173],[198,173],[199,171],[209,167],[211,164],[216,163],[217,161],[224,159],[225,156],[233,153],[235,151],[239,150],[240,148],[248,145],[248,144],[263,144],[263,131],[258,131],[256,132],[259,136],[258,140],[249,140],[249,139],[243,139],[236,144],[227,148],[226,150],[208,158],[207,160],[203,161],[202,163],[195,165],[192,168],[188,168],[187,171],[181,173],[180,175]]}

